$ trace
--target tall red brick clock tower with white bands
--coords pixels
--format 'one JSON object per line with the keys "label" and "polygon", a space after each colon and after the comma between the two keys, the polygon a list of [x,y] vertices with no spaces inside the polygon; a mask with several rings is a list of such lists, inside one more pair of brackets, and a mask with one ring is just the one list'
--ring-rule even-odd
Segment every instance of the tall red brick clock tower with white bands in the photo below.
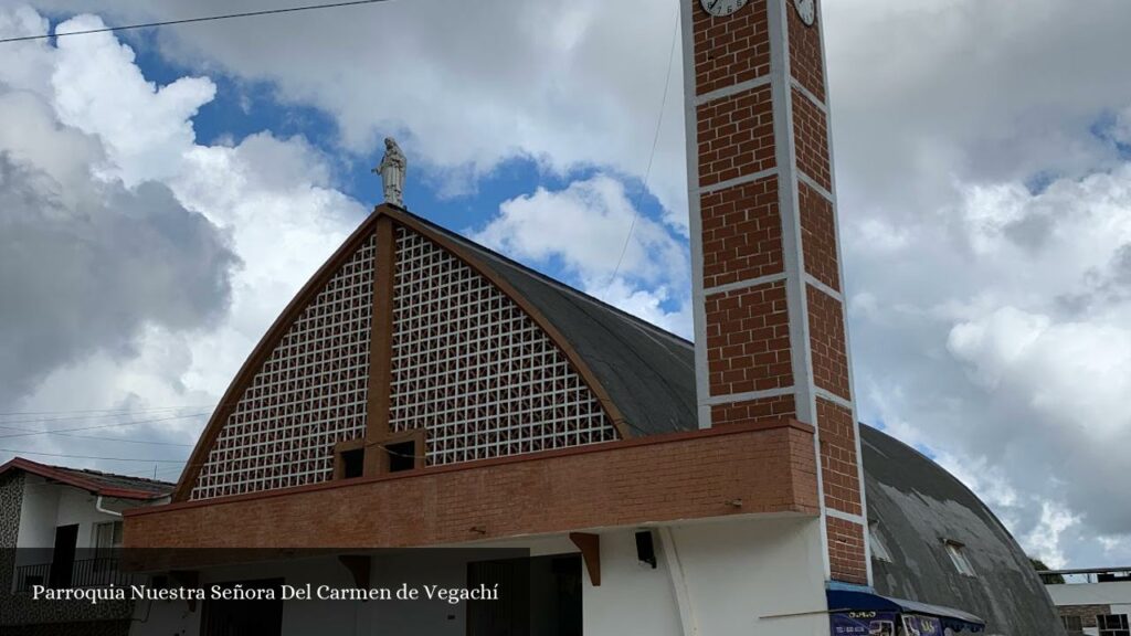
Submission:
{"label": "tall red brick clock tower with white bands", "polygon": [[871,585],[817,0],[680,0],[701,428],[817,429],[826,578]]}

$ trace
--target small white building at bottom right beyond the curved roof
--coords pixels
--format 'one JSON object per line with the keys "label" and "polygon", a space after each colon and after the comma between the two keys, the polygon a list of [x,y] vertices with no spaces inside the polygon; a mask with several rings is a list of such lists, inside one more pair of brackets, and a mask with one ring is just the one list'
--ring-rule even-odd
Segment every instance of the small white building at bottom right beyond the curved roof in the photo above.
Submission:
{"label": "small white building at bottom right beyond the curved roof", "polygon": [[1039,574],[1069,636],[1131,636],[1131,567]]}

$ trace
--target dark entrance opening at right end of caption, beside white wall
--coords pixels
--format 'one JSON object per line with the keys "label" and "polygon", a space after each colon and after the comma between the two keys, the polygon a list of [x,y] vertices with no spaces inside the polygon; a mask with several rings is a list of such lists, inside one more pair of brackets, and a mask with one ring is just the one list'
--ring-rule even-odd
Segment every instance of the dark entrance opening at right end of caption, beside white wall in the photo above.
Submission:
{"label": "dark entrance opening at right end of caption, beside white wall", "polygon": [[467,603],[467,636],[581,636],[581,557],[556,555],[467,564],[467,586],[499,600]]}

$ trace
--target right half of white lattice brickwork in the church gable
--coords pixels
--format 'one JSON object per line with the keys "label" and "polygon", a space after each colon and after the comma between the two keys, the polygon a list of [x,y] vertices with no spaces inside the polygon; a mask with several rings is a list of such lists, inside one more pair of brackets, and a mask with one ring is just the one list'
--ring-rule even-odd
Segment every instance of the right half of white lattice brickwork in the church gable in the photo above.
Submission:
{"label": "right half of white lattice brickwork in the church gable", "polygon": [[490,281],[397,229],[394,431],[426,429],[428,464],[616,439],[562,351]]}

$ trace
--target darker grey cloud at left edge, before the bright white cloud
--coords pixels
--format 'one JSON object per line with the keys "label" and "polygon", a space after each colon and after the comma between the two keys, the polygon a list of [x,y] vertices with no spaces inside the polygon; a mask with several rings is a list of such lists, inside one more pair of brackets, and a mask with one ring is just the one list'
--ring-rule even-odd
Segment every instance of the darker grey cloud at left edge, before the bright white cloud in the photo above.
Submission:
{"label": "darker grey cloud at left edge, before the bright white cloud", "polygon": [[[5,33],[43,23],[0,11]],[[161,183],[96,179],[98,136],[60,121],[41,78],[66,68],[42,43],[10,45],[0,61],[0,403],[53,370],[90,355],[129,358],[147,328],[215,324],[231,298],[235,263],[223,233]]]}

